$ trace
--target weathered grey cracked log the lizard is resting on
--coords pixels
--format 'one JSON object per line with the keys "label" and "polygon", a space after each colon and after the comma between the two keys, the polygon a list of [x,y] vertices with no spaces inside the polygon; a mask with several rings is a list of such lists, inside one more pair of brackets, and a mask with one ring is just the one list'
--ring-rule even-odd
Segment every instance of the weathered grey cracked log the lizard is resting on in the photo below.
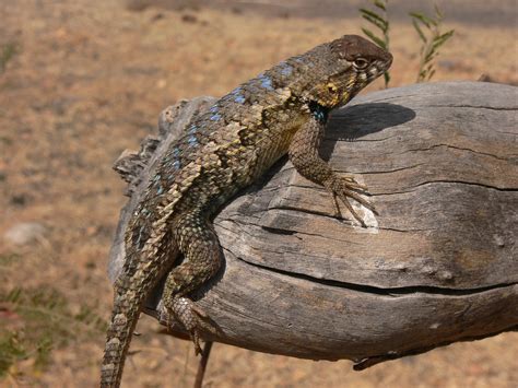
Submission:
{"label": "weathered grey cracked log the lizard is resting on", "polygon": [[[167,108],[160,143],[118,162],[132,197],[111,280],[141,181],[212,102]],[[367,228],[345,209],[337,220],[331,197],[280,161],[215,217],[225,264],[193,295],[219,328],[207,339],[363,368],[517,330],[517,87],[448,82],[372,93],[335,111],[322,157],[368,186],[379,215],[358,208]],[[148,314],[158,299],[160,291]]]}

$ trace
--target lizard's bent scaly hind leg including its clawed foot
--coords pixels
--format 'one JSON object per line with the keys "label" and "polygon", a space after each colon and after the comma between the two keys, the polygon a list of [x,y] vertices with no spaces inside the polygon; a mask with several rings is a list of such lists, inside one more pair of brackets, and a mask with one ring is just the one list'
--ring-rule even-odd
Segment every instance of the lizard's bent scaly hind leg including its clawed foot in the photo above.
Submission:
{"label": "lizard's bent scaly hind leg including its clawed foot", "polygon": [[223,256],[212,224],[198,212],[188,212],[175,219],[174,236],[184,262],[167,275],[163,302],[169,317],[179,321],[201,352],[200,331],[213,331],[208,315],[187,294],[199,289],[220,269]]}

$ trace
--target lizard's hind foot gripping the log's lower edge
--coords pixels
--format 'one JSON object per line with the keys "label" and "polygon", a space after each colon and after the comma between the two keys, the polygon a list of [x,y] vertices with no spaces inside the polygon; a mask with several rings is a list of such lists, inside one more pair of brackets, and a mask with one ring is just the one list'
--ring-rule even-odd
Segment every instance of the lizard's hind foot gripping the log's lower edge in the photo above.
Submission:
{"label": "lizard's hind foot gripping the log's lower edge", "polygon": [[184,325],[195,344],[195,353],[200,354],[200,329],[214,331],[214,327],[209,324],[210,318],[207,313],[187,297],[175,297],[169,311],[169,317],[175,317],[178,322]]}

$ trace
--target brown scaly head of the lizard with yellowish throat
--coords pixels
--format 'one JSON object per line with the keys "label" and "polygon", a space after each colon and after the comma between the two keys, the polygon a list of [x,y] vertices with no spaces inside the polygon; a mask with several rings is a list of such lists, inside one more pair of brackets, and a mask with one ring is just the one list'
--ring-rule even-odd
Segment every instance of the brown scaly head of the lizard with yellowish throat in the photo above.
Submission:
{"label": "brown scaly head of the lizard with yellowish throat", "polygon": [[327,49],[327,77],[311,94],[328,108],[345,105],[392,63],[390,52],[357,35],[344,35],[328,44]]}

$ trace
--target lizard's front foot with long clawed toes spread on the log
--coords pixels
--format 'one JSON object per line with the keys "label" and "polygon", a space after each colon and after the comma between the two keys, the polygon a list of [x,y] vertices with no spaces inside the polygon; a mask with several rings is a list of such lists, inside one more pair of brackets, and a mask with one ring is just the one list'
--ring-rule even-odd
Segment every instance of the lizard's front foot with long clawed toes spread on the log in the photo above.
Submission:
{"label": "lizard's front foot with long clawed toes spread on the log", "polygon": [[358,213],[356,213],[356,211],[353,209],[353,207],[351,205],[351,202],[349,201],[349,198],[352,198],[355,201],[360,202],[365,208],[369,209],[373,213],[378,214],[374,204],[372,204],[369,201],[367,201],[365,198],[363,198],[358,193],[358,192],[362,192],[364,195],[368,195],[367,187],[358,184],[356,180],[354,180],[353,177],[333,175],[331,179],[329,179],[328,181],[323,184],[323,186],[332,195],[334,209],[335,209],[335,213],[334,213],[335,217],[343,220],[343,216],[338,203],[339,198],[343,202],[343,204],[345,204],[345,207],[354,216],[354,219],[356,219],[356,221],[360,222],[363,227],[367,227],[367,225],[365,224],[363,219],[358,215]]}

